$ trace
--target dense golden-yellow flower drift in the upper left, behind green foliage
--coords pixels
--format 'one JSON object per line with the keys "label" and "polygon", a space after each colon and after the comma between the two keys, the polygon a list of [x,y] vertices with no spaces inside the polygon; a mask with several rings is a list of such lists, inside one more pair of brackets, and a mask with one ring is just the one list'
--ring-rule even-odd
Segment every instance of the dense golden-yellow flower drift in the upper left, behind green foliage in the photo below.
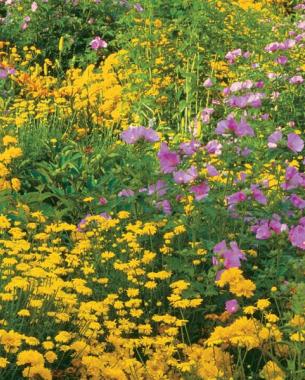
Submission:
{"label": "dense golden-yellow flower drift in the upper left, behind green foliage", "polygon": [[[15,47],[1,45],[4,64],[20,68],[12,77],[19,86],[19,96],[10,105],[9,116],[1,116],[1,120],[6,125],[21,127],[30,120],[44,123],[56,113],[59,120],[77,117],[82,127],[75,125],[75,128],[81,134],[92,125],[124,129],[130,123],[138,123],[139,113],[134,112],[134,107],[144,99],[166,103],[167,89],[175,77],[170,57],[177,58],[180,53],[174,54],[175,47],[168,38],[170,30],[163,28],[160,20],[152,24],[149,20],[136,20],[136,23],[139,38],[133,39],[131,44],[143,50],[143,67],[132,59],[132,50],[119,50],[98,67],[91,64],[84,70],[67,70],[61,80],[50,75],[56,64],[49,59],[42,66],[34,64],[35,54],[40,54],[34,47],[18,54]],[[147,42],[150,33],[154,43]],[[149,72],[145,62],[150,64]],[[151,107],[147,104],[145,110]]]}

